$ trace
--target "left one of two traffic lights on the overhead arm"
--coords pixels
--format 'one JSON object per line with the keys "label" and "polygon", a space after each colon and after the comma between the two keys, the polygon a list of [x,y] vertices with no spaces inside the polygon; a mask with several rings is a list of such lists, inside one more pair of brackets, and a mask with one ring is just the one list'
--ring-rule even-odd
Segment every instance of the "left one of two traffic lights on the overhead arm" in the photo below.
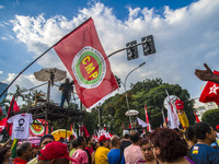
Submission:
{"label": "left one of two traffic lights on the overhead arm", "polygon": [[137,46],[137,40],[130,42],[126,44],[127,47],[127,59],[132,60],[138,58],[138,48]]}

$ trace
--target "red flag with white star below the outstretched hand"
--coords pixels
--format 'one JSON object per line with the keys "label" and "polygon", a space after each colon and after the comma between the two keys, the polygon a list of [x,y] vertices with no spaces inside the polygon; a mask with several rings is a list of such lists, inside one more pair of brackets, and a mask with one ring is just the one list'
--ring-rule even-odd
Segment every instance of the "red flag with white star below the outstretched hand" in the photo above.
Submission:
{"label": "red flag with white star below the outstretched hand", "polygon": [[[219,74],[218,71],[214,71],[214,74]],[[203,103],[216,102],[219,105],[219,84],[208,81],[200,94],[199,101]]]}

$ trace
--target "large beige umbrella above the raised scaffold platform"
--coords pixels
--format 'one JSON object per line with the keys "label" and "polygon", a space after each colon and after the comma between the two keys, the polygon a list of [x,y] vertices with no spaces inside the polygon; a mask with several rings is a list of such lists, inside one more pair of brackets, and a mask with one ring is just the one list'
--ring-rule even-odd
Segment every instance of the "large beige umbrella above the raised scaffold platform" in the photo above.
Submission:
{"label": "large beige umbrella above the raised scaffold platform", "polygon": [[67,72],[57,68],[44,68],[41,71],[34,72],[35,78],[38,81],[61,81],[67,77]]}

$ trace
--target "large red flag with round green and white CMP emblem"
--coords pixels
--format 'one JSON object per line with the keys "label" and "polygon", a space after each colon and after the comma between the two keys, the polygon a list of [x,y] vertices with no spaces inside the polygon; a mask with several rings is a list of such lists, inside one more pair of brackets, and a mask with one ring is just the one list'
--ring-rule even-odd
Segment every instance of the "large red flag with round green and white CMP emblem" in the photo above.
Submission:
{"label": "large red flag with round green and white CMP emblem", "polygon": [[73,78],[87,108],[118,89],[92,19],[65,36],[54,49]]}

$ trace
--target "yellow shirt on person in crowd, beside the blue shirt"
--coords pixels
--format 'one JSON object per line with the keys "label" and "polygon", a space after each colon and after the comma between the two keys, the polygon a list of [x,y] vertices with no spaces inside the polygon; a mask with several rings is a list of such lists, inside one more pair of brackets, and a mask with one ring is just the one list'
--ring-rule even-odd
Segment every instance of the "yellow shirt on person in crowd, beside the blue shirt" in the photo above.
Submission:
{"label": "yellow shirt on person in crowd, beside the blue shirt", "polygon": [[95,164],[108,164],[107,162],[108,152],[110,149],[105,147],[99,147],[99,149],[95,152]]}

